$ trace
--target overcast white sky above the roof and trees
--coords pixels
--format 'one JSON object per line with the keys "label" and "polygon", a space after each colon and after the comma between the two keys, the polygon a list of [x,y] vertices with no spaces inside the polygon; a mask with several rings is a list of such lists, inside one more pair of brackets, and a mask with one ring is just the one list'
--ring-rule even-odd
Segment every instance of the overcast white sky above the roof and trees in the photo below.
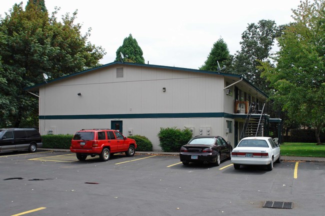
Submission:
{"label": "overcast white sky above the roof and trees", "polygon": [[[1,0],[0,14],[14,3],[27,0]],[[100,63],[115,59],[123,39],[132,34],[143,51],[145,63],[197,69],[206,60],[220,37],[230,54],[240,50],[241,33],[248,23],[271,19],[276,24],[292,21],[291,8],[300,0],[45,0],[49,13],[56,16],[78,10],[74,23],[83,32],[91,27],[88,40],[105,49]]]}

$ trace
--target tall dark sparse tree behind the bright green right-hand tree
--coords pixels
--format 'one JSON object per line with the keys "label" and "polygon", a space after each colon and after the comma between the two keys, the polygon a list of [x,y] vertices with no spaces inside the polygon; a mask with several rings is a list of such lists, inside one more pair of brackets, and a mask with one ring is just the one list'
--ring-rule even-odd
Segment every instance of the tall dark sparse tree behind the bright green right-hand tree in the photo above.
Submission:
{"label": "tall dark sparse tree behind the bright green right-hand tree", "polygon": [[250,23],[241,34],[241,50],[234,57],[234,73],[243,74],[260,89],[267,91],[265,78],[260,77],[261,70],[257,68],[257,60],[269,61],[270,50],[274,44],[278,28],[273,20],[259,20]]}

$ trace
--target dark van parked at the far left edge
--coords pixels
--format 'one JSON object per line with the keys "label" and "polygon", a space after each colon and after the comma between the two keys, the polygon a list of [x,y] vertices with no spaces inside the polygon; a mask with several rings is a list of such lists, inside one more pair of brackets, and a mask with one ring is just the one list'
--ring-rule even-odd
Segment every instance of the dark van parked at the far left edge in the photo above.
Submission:
{"label": "dark van parked at the far left edge", "polygon": [[41,136],[32,128],[0,128],[0,152],[28,150],[35,152],[43,145]]}

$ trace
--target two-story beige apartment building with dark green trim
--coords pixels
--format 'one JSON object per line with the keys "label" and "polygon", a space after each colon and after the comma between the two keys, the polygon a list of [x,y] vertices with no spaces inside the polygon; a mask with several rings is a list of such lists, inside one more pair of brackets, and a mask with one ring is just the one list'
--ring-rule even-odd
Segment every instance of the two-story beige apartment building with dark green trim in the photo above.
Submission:
{"label": "two-story beige apartment building with dark green trim", "polygon": [[112,128],[148,137],[154,150],[161,127],[221,135],[234,146],[248,122],[269,118],[265,107],[261,115],[267,95],[247,79],[198,69],[112,62],[26,90],[38,92],[41,134]]}

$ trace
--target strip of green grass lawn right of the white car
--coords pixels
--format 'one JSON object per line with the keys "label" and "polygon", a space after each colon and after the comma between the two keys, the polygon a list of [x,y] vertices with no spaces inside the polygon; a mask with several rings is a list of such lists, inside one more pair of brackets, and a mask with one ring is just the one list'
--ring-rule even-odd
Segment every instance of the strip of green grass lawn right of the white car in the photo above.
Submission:
{"label": "strip of green grass lawn right of the white car", "polygon": [[282,156],[325,157],[325,145],[303,142],[284,142],[280,146]]}

